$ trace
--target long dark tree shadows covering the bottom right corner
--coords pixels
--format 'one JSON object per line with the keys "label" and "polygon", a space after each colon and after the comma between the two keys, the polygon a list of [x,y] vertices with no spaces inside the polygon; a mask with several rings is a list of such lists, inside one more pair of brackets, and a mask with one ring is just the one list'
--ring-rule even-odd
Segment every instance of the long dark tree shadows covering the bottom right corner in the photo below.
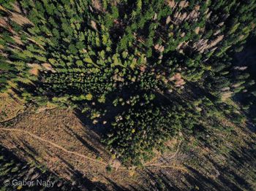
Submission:
{"label": "long dark tree shadows covering the bottom right corner", "polygon": [[200,171],[207,170],[205,165],[200,166],[202,168],[200,171],[186,165],[189,169],[189,174],[186,174],[187,182],[197,185],[200,190],[254,190],[253,185],[246,179],[246,171],[251,171],[248,166],[252,169],[256,168],[255,144],[249,141],[246,141],[246,144],[248,144],[249,148],[239,147],[230,151],[225,159],[229,163],[225,164],[225,166],[220,165],[210,156],[205,156],[207,161],[219,171],[216,179],[207,178],[200,173]]}

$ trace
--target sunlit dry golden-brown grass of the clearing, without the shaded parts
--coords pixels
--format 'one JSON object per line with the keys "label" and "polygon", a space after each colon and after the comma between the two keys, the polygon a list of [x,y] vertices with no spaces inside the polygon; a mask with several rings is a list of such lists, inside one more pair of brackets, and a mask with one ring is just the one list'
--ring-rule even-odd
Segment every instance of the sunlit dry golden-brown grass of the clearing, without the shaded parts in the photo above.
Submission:
{"label": "sunlit dry golden-brown grass of the clearing, without the shaded parts", "polygon": [[[12,100],[7,94],[1,95],[1,106],[2,103],[7,103],[5,106],[7,109],[16,107],[13,101],[6,102],[4,99]],[[39,109],[29,108],[26,111],[29,112],[20,114],[17,119],[0,123],[0,144],[11,149],[23,160],[43,163],[50,171],[71,181],[75,181],[74,174],[79,172],[91,182],[105,184],[108,187],[107,190],[115,190],[113,182],[128,190],[131,189],[131,185],[137,189],[141,187],[149,189],[152,184],[155,184],[152,176],[158,177],[158,174],[164,174],[171,181],[176,182],[178,187],[187,188],[185,177],[191,172],[183,163],[190,156],[184,153],[185,145],[181,144],[183,141],[178,139],[168,141],[166,144],[172,152],[166,152],[163,155],[156,152],[157,157],[150,163],[146,163],[146,168],[124,168],[118,160],[111,159],[100,143],[100,137],[92,130],[93,127],[83,125],[71,110],[48,105]],[[8,114],[8,117],[15,117],[15,112],[8,112]],[[242,137],[247,136],[230,120],[221,117],[219,122],[227,127],[232,126]],[[11,128],[14,130],[10,130]],[[227,136],[222,131],[215,133],[215,136],[225,140],[223,142],[225,147],[233,147],[233,136]],[[214,137],[209,136],[208,139],[214,139]],[[214,150],[203,144],[194,146],[195,141],[192,137],[187,146],[197,150],[197,155],[201,159],[206,160],[205,156],[214,154]],[[242,139],[236,142],[239,142],[239,145],[245,145]],[[219,163],[223,165],[227,163],[222,155],[214,155],[214,160],[220,161]],[[106,171],[107,165],[112,166],[113,171]],[[197,165],[191,165],[198,171],[208,174],[209,179],[218,179],[219,170],[208,161],[200,163],[199,165],[202,165],[200,168]]]}

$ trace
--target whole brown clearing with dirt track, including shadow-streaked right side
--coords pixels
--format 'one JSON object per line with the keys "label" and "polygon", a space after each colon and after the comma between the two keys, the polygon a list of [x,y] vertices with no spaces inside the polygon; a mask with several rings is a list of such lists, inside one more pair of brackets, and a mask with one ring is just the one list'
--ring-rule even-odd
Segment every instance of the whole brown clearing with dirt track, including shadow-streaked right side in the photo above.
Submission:
{"label": "whole brown clearing with dirt track, including shadow-streaked right side", "polygon": [[[256,186],[255,136],[229,120],[221,122],[234,126],[236,133],[215,132],[208,138],[223,136],[225,141],[207,145],[191,137],[187,142],[180,133],[167,143],[170,151],[164,155],[158,154],[141,168],[127,168],[111,158],[93,127],[85,126],[72,110],[38,109],[24,106],[15,96],[0,98],[0,144],[72,184],[86,187],[87,180],[108,190],[254,190]],[[108,166],[112,171],[107,171]]]}

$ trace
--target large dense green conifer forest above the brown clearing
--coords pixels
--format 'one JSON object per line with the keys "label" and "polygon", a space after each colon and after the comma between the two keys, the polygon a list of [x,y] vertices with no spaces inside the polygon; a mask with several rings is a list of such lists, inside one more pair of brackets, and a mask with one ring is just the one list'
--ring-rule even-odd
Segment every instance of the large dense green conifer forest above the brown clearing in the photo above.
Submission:
{"label": "large dense green conifer forest above the brown clearing", "polygon": [[1,0],[0,87],[71,106],[140,165],[253,85],[232,57],[255,34],[256,1]]}

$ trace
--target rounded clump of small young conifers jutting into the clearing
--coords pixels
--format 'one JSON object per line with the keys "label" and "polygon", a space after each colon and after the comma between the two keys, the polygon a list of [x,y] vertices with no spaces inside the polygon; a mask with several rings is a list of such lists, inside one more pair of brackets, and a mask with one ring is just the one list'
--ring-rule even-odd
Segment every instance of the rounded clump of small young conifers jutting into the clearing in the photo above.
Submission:
{"label": "rounded clump of small young conifers jutting into the clearing", "polygon": [[140,165],[154,155],[153,149],[165,149],[165,141],[181,128],[177,118],[176,112],[164,106],[132,107],[116,116],[105,143],[125,163]]}

